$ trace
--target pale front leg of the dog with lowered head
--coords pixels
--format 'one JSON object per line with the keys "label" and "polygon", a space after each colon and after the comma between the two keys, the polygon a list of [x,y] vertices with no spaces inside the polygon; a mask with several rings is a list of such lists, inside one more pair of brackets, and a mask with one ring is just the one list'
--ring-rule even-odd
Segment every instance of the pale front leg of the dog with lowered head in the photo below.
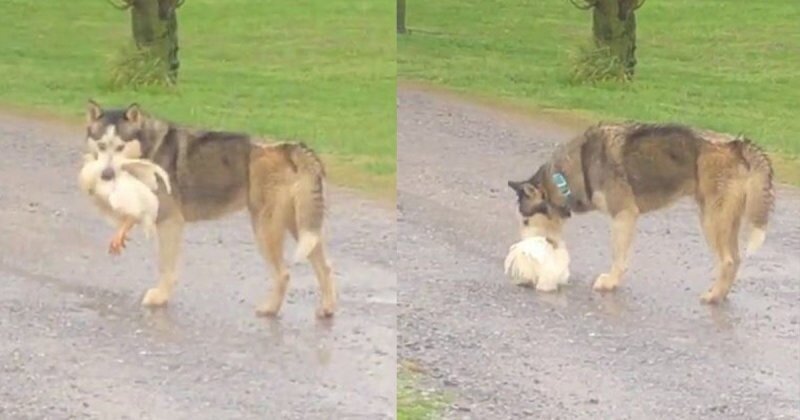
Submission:
{"label": "pale front leg of the dog with lowered head", "polygon": [[636,231],[636,219],[639,212],[635,209],[625,209],[614,215],[611,221],[611,242],[614,260],[611,270],[597,277],[594,282],[594,290],[610,291],[619,286],[622,275],[628,269],[628,254],[633,234]]}

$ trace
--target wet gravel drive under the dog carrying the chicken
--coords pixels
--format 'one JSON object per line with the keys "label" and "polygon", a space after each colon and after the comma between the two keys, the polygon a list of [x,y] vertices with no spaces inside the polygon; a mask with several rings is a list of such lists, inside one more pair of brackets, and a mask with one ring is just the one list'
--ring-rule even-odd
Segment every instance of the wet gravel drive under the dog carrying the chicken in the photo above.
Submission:
{"label": "wet gravel drive under the dog carrying the chicken", "polygon": [[308,264],[282,317],[255,317],[268,271],[244,214],[187,228],[174,300],[146,310],[155,243],[106,254],[113,231],[77,189],[83,141],[0,115],[0,418],[394,417],[393,209],[333,189],[332,321]]}

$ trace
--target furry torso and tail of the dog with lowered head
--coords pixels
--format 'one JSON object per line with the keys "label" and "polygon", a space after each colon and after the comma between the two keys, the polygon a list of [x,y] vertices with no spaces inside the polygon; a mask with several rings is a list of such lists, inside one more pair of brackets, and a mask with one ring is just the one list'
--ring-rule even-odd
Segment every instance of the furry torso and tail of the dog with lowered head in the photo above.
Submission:
{"label": "furry torso and tail of the dog with lowered head", "polygon": [[[685,196],[702,202],[728,191],[746,196],[747,218],[766,225],[772,166],[750,140],[682,125],[600,124],[578,139],[587,194],[603,194],[610,212],[633,195],[646,213]],[[745,203],[741,203],[745,206]]]}

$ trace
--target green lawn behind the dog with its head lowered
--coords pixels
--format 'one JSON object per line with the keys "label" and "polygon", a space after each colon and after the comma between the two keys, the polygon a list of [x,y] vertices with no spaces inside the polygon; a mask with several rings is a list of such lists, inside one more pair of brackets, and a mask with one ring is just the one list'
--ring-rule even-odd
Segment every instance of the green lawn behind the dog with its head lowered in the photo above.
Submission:
{"label": "green lawn behind the dog with its head lowered", "polygon": [[[408,1],[398,78],[589,118],[680,121],[800,155],[796,0],[648,1],[634,82],[576,85],[591,12],[566,0]],[[797,164],[796,160],[785,162]]]}

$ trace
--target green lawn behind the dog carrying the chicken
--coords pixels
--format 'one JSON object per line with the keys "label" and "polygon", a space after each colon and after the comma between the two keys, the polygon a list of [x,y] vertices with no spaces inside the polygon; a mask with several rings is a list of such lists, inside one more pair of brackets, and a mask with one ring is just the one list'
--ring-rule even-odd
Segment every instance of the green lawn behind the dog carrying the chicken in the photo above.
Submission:
{"label": "green lawn behind the dog carrying the chicken", "polygon": [[[0,106],[82,121],[87,98],[181,123],[300,139],[334,182],[394,195],[394,6],[370,0],[188,0],[176,89],[114,90],[130,16],[103,0],[4,0]],[[340,169],[340,170],[339,170]]]}

